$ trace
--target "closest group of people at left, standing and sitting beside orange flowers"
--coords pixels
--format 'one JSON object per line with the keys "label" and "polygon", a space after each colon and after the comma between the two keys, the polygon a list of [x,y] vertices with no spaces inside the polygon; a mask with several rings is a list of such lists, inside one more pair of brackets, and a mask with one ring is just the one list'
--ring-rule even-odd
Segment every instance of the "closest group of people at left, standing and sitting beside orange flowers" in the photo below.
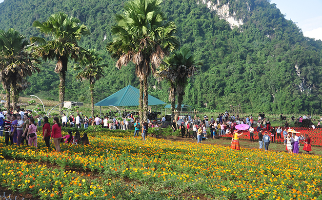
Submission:
{"label": "closest group of people at left, standing and sitting beside orange flowers", "polygon": [[[53,118],[53,125],[51,126],[48,117],[41,117],[36,115],[35,118],[31,114],[30,110],[24,111],[24,109],[17,108],[15,112],[1,112],[0,110],[0,136],[5,137],[5,144],[9,145],[9,140],[11,145],[23,145],[24,143],[29,146],[34,146],[37,148],[37,136],[38,133],[37,126],[41,126],[42,123],[42,140],[45,141],[46,146],[50,150],[50,143],[54,143],[56,151],[60,152],[60,142],[63,141],[61,135],[60,120],[58,117]],[[38,133],[38,134],[37,134]],[[67,143],[72,144],[89,144],[87,134],[85,133],[82,138],[78,137],[79,132],[72,137],[72,141]]]}

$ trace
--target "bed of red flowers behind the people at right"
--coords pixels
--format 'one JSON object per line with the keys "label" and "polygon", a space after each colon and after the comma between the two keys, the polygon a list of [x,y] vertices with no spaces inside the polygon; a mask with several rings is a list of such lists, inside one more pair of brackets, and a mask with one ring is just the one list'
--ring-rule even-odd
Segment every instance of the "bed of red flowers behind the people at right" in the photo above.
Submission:
{"label": "bed of red flowers behind the people at right", "polygon": [[[300,128],[300,127],[294,127],[292,129],[295,129],[296,131],[300,132],[301,134],[303,134],[303,136],[305,136],[305,134],[308,134],[309,137],[311,138],[311,144],[312,146],[322,146],[322,128],[316,128],[316,129],[312,129],[312,128]],[[283,129],[284,130],[284,129]],[[300,136],[301,134],[297,134],[298,136]],[[283,138],[283,134],[282,138]],[[222,136],[224,138],[231,138],[231,135],[225,135]],[[249,132],[248,131],[243,131],[243,135],[239,137],[241,140],[249,140]],[[258,140],[258,132],[255,131],[254,132],[254,139]],[[277,139],[276,136],[276,141],[283,143],[284,139]],[[301,141],[302,143],[303,141]]]}

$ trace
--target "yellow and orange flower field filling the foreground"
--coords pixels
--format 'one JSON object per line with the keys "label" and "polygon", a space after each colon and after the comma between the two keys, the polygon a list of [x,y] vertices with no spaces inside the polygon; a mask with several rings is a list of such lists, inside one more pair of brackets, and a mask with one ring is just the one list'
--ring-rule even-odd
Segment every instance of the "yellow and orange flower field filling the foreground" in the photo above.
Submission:
{"label": "yellow and orange flower field filling the foreground", "polygon": [[90,137],[62,153],[6,146],[1,186],[44,200],[320,199],[322,157],[148,138]]}

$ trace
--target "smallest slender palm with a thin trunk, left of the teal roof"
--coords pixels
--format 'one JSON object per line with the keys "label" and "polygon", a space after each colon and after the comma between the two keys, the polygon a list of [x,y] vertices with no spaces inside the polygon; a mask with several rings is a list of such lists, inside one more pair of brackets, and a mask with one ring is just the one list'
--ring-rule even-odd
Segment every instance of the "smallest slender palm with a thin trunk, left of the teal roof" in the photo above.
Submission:
{"label": "smallest slender palm with a thin trunk, left of the teal roof", "polygon": [[75,70],[81,70],[76,79],[89,80],[89,90],[91,92],[92,116],[94,116],[94,85],[96,80],[104,77],[104,67],[106,64],[99,64],[102,60],[101,56],[95,49],[88,50],[89,56],[84,56],[78,64],[75,65]]}

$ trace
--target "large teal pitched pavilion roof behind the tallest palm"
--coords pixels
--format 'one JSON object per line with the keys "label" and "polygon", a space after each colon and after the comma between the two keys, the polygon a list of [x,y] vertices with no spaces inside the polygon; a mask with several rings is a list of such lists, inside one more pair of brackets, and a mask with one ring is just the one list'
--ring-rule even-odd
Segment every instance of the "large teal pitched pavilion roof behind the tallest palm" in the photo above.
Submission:
{"label": "large teal pitched pavilion roof behind the tallest palm", "polygon": [[[106,97],[100,102],[95,103],[96,106],[139,106],[140,90],[128,85],[113,95]],[[158,100],[151,95],[148,96],[149,105],[162,105],[165,102]]]}

